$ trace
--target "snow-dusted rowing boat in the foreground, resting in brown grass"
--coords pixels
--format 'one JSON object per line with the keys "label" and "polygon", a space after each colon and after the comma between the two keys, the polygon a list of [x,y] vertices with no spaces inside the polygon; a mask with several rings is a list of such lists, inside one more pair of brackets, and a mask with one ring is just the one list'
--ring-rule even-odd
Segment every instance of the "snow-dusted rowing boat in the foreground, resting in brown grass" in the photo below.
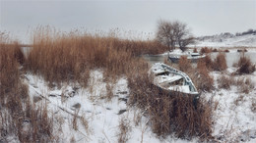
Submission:
{"label": "snow-dusted rowing boat in the foreground, resting in brown grass", "polygon": [[153,77],[153,84],[161,89],[199,96],[190,77],[182,71],[162,63],[156,63],[152,66],[149,73]]}

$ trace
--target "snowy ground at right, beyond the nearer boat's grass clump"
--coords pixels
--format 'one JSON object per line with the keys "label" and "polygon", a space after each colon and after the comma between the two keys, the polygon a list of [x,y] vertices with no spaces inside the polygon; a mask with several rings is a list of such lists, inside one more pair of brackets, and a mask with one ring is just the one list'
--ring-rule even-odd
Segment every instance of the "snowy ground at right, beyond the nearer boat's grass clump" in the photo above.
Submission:
{"label": "snowy ground at right, beyond the nearer boat's grass clump", "polygon": [[212,98],[216,103],[213,135],[224,142],[256,142],[256,111],[252,105],[256,102],[256,71],[250,75],[235,76],[230,75],[233,71],[233,68],[229,68],[225,75],[233,79],[251,79],[253,87],[248,94],[241,92],[239,85],[233,85],[227,90],[220,89],[217,79],[224,73],[211,72],[217,89],[202,95],[207,99]]}

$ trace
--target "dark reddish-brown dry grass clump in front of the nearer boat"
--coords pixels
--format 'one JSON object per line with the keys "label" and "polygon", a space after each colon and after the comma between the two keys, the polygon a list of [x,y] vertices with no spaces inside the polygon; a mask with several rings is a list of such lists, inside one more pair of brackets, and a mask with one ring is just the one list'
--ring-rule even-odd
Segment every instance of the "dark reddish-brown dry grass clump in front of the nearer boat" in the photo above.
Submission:
{"label": "dark reddish-brown dry grass clump in front of the nearer boat", "polygon": [[211,138],[212,108],[203,99],[163,91],[152,84],[147,71],[128,78],[128,83],[130,106],[142,109],[159,136],[173,133],[186,139],[193,136]]}

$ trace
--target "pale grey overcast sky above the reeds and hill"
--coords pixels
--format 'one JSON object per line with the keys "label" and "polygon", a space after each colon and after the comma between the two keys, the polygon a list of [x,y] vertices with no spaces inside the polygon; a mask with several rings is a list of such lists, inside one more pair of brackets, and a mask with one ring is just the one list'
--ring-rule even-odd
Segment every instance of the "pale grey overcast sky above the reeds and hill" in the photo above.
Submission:
{"label": "pale grey overcast sky above the reeds and hill", "polygon": [[256,28],[256,0],[0,0],[0,10],[0,31],[24,43],[39,24],[155,33],[158,20],[178,20],[195,36]]}

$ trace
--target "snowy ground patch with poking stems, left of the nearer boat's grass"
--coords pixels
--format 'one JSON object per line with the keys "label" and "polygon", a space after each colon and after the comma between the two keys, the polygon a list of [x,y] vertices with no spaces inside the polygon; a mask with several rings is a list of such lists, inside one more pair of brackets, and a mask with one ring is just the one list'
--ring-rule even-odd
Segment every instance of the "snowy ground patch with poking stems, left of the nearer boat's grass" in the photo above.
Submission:
{"label": "snowy ground patch with poking stems, left of the nearer boat's grass", "polygon": [[[112,86],[113,98],[107,101],[106,85],[102,71],[92,71],[88,88],[72,83],[61,88],[49,88],[39,76],[27,73],[25,82],[29,85],[32,102],[41,106],[47,104],[49,115],[54,116],[54,133],[61,142],[118,142],[119,124],[125,119],[129,124],[128,142],[187,142],[167,137],[160,139],[152,132],[147,118],[139,109],[128,108],[127,79],[119,78]],[[77,129],[74,128],[74,117]],[[86,121],[85,121],[86,120]],[[139,123],[136,123],[139,120]],[[88,126],[87,126],[88,122]],[[192,140],[196,142],[196,139]]]}

